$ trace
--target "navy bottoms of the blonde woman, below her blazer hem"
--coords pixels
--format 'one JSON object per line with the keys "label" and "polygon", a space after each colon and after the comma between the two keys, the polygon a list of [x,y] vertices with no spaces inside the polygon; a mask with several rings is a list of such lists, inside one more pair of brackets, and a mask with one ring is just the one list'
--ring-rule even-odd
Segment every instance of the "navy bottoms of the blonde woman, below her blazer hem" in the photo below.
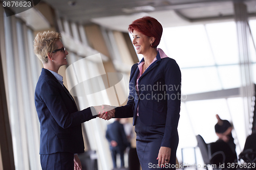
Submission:
{"label": "navy bottoms of the blonde woman, below her blazer hem", "polygon": [[73,170],[74,154],[57,152],[54,154],[40,155],[42,170]]}

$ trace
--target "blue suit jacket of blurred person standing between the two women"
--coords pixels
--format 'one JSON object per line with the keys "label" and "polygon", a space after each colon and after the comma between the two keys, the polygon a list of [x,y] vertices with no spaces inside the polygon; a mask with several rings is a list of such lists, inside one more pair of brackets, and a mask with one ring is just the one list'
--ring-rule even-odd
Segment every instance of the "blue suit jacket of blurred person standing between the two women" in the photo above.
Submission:
{"label": "blue suit jacket of blurred person standing between the two women", "polygon": [[111,142],[111,140],[115,140],[118,143],[117,147],[112,147],[110,145],[111,150],[124,151],[128,146],[128,141],[123,129],[123,125],[118,121],[108,125],[108,129],[106,130],[106,139],[108,139],[109,142]]}

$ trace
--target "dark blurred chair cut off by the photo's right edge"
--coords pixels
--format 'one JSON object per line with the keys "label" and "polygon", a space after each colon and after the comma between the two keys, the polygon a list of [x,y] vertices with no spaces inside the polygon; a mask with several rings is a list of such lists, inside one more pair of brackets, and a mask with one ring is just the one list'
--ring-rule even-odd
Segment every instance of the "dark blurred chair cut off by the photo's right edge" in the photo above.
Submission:
{"label": "dark blurred chair cut off by the photo's right edge", "polygon": [[246,138],[244,150],[240,153],[239,159],[243,159],[247,164],[256,163],[256,133]]}

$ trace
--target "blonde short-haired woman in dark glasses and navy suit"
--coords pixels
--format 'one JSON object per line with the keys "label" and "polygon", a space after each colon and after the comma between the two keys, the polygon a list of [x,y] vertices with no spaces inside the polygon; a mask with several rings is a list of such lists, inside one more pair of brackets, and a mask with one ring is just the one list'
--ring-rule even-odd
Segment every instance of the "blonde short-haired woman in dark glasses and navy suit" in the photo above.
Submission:
{"label": "blonde short-haired woman in dark glasses and navy suit", "polygon": [[[44,64],[35,88],[35,107],[40,122],[40,161],[43,170],[81,169],[76,153],[84,152],[81,124],[104,112],[101,106],[78,111],[73,97],[63,85],[59,67],[67,65],[66,48],[60,33],[38,33],[34,52]],[[108,116],[107,116],[108,114]],[[103,119],[113,112],[100,114]]]}

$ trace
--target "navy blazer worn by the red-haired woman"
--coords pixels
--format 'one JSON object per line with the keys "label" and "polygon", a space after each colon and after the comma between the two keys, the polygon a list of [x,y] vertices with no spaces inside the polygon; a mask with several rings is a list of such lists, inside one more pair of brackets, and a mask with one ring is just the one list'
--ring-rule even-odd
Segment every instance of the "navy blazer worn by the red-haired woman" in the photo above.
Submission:
{"label": "navy blazer worn by the red-haired woman", "polygon": [[[144,61],[142,59],[140,63]],[[160,58],[152,63],[138,80],[138,63],[131,69],[130,94],[125,106],[117,107],[115,117],[133,117],[136,124],[137,109],[141,122],[146,126],[165,125],[162,147],[176,148],[178,144],[178,122],[181,103],[181,72],[171,58]]]}

